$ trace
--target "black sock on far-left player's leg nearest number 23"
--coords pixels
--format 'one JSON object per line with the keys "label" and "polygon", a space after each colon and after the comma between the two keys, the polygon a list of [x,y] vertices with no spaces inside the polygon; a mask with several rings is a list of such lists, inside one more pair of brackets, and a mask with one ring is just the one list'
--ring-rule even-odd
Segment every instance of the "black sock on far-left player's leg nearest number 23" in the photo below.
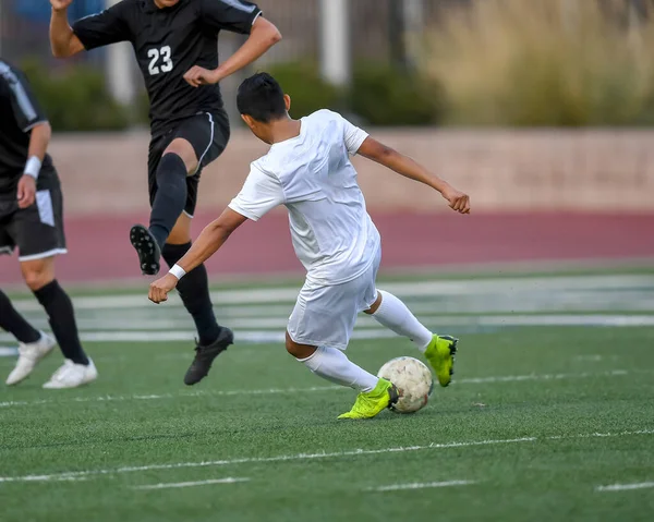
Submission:
{"label": "black sock on far-left player's leg nearest number 23", "polygon": [[63,356],[75,364],[87,365],[88,357],[80,343],[71,298],[68,296],[57,280],[36,290],[34,295],[36,295],[50,318],[50,328],[52,328]]}

